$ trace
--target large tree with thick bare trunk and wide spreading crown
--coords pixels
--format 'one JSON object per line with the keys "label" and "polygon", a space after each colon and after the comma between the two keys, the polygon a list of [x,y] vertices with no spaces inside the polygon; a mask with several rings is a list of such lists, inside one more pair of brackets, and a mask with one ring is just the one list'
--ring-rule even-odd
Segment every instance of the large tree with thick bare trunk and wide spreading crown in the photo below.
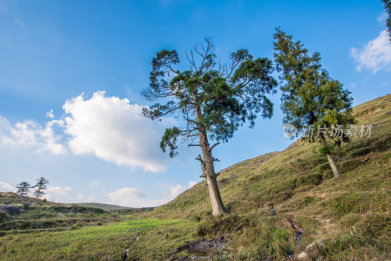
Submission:
{"label": "large tree with thick bare trunk and wide spreading crown", "polygon": [[[148,101],[157,99],[169,101],[156,103],[145,108],[142,114],[152,120],[159,120],[169,114],[183,117],[182,127],[165,131],[160,148],[168,148],[170,157],[178,154],[176,142],[181,137],[188,146],[199,146],[202,156],[202,175],[206,179],[214,216],[225,215],[225,209],[217,186],[212,150],[222,141],[232,138],[239,126],[248,120],[254,126],[257,113],[263,118],[273,115],[273,104],[265,96],[275,93],[278,85],[271,76],[272,61],[267,58],[253,59],[247,49],[229,54],[229,62],[221,64],[215,54],[211,38],[196,44],[186,51],[189,70],[179,71],[175,50],[163,49],[152,59],[150,85],[141,94]],[[174,76],[168,82],[167,78]],[[210,145],[211,140],[216,141]]]}

